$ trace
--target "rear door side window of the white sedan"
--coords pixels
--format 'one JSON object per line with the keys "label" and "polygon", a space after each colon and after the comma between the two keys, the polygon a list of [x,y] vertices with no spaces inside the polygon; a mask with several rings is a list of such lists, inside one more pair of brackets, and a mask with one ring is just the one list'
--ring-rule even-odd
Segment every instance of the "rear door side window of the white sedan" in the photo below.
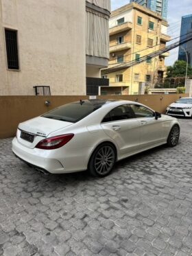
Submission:
{"label": "rear door side window of the white sedan", "polygon": [[134,113],[132,112],[132,108],[125,104],[110,110],[101,123],[106,123],[108,121],[120,121],[130,118],[134,118]]}

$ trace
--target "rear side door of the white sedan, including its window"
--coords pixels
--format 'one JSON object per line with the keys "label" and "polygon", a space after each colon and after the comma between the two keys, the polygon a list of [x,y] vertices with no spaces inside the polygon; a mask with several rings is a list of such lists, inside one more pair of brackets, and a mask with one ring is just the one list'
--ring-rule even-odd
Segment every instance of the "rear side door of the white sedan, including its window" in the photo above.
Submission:
{"label": "rear side door of the white sedan, including its window", "polygon": [[127,104],[117,106],[101,121],[101,127],[116,141],[120,154],[136,152],[141,143],[141,122]]}

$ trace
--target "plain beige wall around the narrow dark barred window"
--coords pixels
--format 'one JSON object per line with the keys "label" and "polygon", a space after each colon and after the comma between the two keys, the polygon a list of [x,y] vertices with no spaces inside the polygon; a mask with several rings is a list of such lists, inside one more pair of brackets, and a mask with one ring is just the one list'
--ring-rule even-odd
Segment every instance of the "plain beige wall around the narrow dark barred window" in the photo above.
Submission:
{"label": "plain beige wall around the narrow dark barred window", "polygon": [[[0,95],[86,92],[84,0],[0,1]],[[18,30],[20,71],[8,71],[4,27]]]}

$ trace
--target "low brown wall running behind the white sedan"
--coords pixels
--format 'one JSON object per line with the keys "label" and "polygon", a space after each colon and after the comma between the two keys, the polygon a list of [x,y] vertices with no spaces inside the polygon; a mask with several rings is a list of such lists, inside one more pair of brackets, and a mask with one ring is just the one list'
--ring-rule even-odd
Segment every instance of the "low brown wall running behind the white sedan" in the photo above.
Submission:
{"label": "low brown wall running behind the white sedan", "polygon": [[[188,95],[124,95],[112,96],[112,98],[140,102],[160,113],[165,113],[167,106],[178,100],[180,96],[187,97]],[[108,99],[108,96],[99,96],[99,98]],[[67,104],[80,99],[88,99],[88,96],[1,96],[0,139],[13,137],[16,133],[18,124],[22,121],[41,115],[62,104]],[[46,106],[45,100],[49,100],[51,105]]]}

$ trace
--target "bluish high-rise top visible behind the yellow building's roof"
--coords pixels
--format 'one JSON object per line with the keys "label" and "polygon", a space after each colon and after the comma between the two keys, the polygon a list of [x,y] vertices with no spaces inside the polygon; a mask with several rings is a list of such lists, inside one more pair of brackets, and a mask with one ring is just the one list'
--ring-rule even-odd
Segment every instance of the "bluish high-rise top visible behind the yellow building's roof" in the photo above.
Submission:
{"label": "bluish high-rise top visible behind the yellow building's roof", "polygon": [[163,19],[167,19],[168,0],[130,0],[130,3],[135,2],[143,5],[145,8],[157,12]]}

